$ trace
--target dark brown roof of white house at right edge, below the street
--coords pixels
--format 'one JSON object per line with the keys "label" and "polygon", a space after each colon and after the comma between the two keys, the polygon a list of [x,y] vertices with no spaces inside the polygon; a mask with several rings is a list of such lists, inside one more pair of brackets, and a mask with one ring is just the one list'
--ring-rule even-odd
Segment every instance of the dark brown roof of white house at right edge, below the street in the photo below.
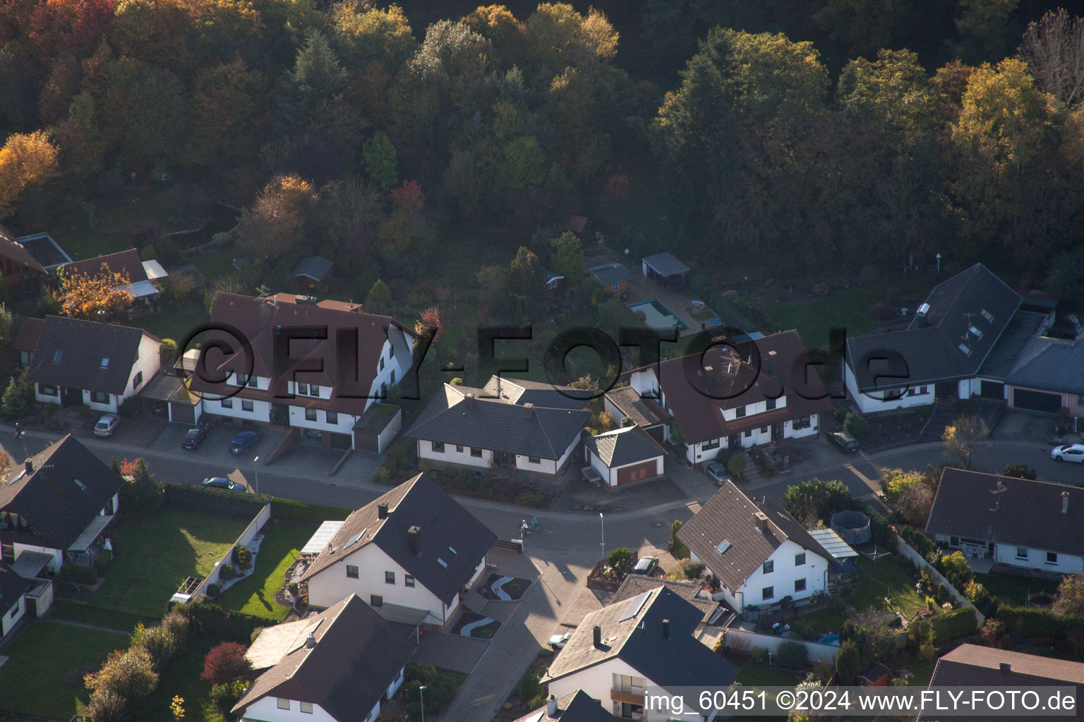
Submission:
{"label": "dark brown roof of white house at right edge, below the street", "polygon": [[[991,494],[998,488],[1006,490]],[[1062,494],[1069,495],[1069,510],[1064,514]],[[1084,555],[1081,529],[1084,529],[1084,489],[962,469],[945,469],[941,474],[938,496],[926,524],[928,534],[1074,555]]]}

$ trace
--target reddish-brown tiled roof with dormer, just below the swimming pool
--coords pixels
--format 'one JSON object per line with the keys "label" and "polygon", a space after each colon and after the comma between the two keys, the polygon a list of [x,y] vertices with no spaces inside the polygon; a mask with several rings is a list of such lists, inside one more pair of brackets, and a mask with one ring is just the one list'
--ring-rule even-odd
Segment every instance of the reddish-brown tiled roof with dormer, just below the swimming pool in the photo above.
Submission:
{"label": "reddish-brown tiled roof with dormer, just below the swimming pool", "polygon": [[[795,363],[804,354],[798,331],[782,331],[736,343],[734,349],[714,346],[702,360],[699,354],[671,358],[659,364],[657,372],[674,421],[685,441],[694,444],[830,410],[831,399],[815,370],[808,368],[804,379],[792,377]],[[701,364],[704,376],[699,373]],[[733,421],[723,418],[724,408],[780,394],[787,397],[783,408]],[[730,398],[720,398],[723,396]]]}

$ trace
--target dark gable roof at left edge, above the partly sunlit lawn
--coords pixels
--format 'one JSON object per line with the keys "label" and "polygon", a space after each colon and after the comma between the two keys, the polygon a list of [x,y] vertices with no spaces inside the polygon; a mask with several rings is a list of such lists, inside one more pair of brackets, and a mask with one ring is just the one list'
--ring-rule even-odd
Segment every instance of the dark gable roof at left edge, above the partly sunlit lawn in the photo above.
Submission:
{"label": "dark gable roof at left edge, above the partly sunlit lawn", "polygon": [[17,512],[53,549],[67,549],[124,480],[70,435],[31,459],[33,473],[23,474],[23,464],[9,472],[9,480],[23,475],[0,487],[0,509]]}

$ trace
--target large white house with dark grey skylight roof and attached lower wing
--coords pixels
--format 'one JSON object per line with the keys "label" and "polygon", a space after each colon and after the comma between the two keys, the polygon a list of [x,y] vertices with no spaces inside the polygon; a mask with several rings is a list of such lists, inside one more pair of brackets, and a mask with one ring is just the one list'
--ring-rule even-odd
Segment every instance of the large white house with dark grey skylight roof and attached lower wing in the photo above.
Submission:
{"label": "large white house with dark grey skylight roof and attached lower wing", "polygon": [[1080,379],[1056,366],[1080,352],[1043,337],[1053,320],[1049,304],[1025,300],[976,263],[938,284],[904,327],[849,338],[847,390],[863,412],[973,396],[1084,409]]}

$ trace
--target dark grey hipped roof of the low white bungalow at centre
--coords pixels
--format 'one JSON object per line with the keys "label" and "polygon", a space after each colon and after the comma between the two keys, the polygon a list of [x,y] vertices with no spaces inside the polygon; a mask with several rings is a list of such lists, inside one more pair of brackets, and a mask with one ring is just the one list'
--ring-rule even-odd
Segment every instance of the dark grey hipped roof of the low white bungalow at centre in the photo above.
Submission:
{"label": "dark grey hipped roof of the low white bungalow at centre", "polygon": [[470,397],[475,391],[446,383],[406,436],[556,460],[591,418],[590,411],[528,409],[504,401]]}

